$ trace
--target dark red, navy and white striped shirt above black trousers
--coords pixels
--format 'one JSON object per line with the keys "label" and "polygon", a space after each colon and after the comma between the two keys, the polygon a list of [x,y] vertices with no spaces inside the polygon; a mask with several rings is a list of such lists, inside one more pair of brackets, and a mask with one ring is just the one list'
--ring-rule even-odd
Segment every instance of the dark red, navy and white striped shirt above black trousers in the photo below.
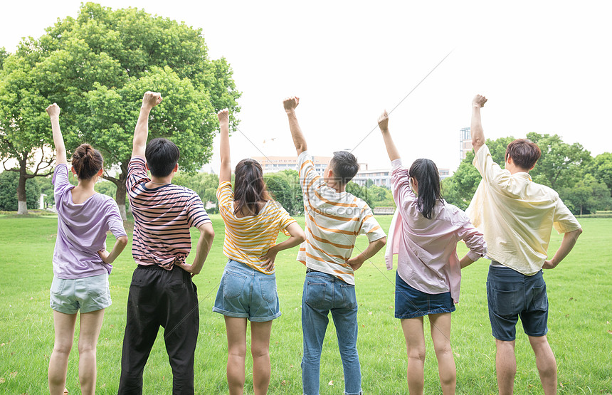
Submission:
{"label": "dark red, navy and white striped shirt above black trousers", "polygon": [[172,270],[191,251],[189,228],[211,220],[196,192],[174,184],[147,188],[148,181],[144,158],[132,157],[125,183],[134,215],[132,256],[139,265]]}

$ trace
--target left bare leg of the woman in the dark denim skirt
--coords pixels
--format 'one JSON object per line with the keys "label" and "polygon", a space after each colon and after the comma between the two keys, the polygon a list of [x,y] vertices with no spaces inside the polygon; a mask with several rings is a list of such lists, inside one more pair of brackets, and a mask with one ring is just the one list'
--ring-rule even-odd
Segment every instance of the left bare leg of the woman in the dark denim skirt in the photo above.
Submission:
{"label": "left bare leg of the woman in the dark denim skirt", "polygon": [[423,369],[425,368],[425,335],[423,317],[401,320],[403,337],[408,350],[408,391],[411,395],[423,394]]}

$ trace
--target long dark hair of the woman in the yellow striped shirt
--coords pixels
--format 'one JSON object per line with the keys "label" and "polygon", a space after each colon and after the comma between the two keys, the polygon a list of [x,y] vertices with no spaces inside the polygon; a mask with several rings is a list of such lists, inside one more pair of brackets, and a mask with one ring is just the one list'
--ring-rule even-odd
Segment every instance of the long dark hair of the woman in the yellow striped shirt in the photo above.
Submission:
{"label": "long dark hair of the woman in the yellow striped shirt", "polygon": [[259,214],[260,201],[271,200],[265,189],[263,171],[259,162],[253,159],[242,159],[236,164],[236,181],[233,189],[234,214],[245,211]]}

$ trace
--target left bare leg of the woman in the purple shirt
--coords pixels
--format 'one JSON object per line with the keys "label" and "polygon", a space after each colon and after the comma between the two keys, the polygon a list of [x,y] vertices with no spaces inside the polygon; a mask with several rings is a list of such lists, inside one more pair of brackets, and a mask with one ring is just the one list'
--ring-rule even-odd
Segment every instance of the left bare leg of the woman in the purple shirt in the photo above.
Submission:
{"label": "left bare leg of the woman in the purple shirt", "polygon": [[62,395],[66,385],[68,357],[73,347],[76,314],[64,314],[53,310],[53,327],[56,338],[53,352],[49,358],[49,392],[51,395]]}

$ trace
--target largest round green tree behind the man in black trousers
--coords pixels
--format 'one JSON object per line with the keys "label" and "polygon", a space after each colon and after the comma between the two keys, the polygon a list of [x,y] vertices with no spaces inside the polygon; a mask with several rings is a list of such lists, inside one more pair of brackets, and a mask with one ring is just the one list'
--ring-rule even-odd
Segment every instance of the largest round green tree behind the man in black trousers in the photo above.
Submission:
{"label": "largest round green tree behind the man in black trousers", "polygon": [[239,111],[232,70],[224,58],[209,58],[201,29],[142,9],[83,4],[76,18],[58,20],[32,47],[43,54],[38,87],[62,108],[68,148],[89,142],[100,149],[124,218],[127,164],[146,90],[164,98],[149,120],[149,138],[172,139],[179,166],[189,172],[211,157],[215,112]]}

